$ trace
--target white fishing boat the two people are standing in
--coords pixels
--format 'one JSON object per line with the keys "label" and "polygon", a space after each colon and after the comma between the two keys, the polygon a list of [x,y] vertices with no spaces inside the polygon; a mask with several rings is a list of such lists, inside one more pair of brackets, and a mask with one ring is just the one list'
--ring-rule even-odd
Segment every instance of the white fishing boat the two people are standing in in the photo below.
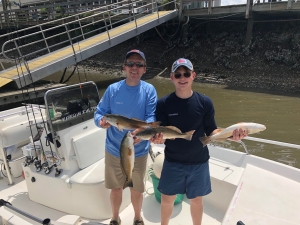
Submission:
{"label": "white fishing boat the two people are standing in", "polygon": [[[98,102],[96,85],[86,82],[48,91],[45,106],[27,105],[0,113],[0,199],[4,200],[0,201],[0,224],[109,224],[110,191],[104,187],[106,131],[93,122]],[[247,139],[300,149],[299,145]],[[163,145],[152,145],[154,153],[163,149]],[[204,197],[202,224],[300,224],[299,169],[247,151],[214,145],[209,145],[209,151],[213,191]],[[148,158],[150,171],[153,162]],[[145,182],[144,222],[160,224],[160,203],[149,174]],[[133,216],[127,188],[122,224],[132,224]],[[170,225],[175,224],[192,224],[186,197],[174,206]]]}

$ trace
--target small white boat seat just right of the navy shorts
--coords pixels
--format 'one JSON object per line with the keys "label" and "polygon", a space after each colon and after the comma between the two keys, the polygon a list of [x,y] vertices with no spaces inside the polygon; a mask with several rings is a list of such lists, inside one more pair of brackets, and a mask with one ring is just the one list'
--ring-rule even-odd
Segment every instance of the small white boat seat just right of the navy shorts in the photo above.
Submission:
{"label": "small white boat seat just right of the navy shorts", "polygon": [[213,157],[209,160],[209,170],[211,178],[215,178],[235,186],[239,184],[244,173],[244,168],[214,159]]}

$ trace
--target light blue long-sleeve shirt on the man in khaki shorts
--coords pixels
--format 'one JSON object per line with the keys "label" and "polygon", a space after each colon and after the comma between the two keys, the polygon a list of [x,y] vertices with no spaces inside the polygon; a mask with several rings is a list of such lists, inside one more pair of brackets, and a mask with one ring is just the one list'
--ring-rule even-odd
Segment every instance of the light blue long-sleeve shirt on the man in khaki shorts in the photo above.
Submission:
{"label": "light blue long-sleeve shirt on the man in khaki shorts", "polygon": [[[94,114],[94,122],[100,127],[100,119],[105,114],[118,114],[128,118],[136,118],[146,122],[154,122],[157,93],[152,84],[140,81],[137,86],[128,86],[125,80],[111,84],[103,94]],[[110,126],[107,129],[106,150],[120,157],[122,138],[128,130],[119,131]],[[141,141],[134,146],[135,157],[148,154],[149,141]]]}

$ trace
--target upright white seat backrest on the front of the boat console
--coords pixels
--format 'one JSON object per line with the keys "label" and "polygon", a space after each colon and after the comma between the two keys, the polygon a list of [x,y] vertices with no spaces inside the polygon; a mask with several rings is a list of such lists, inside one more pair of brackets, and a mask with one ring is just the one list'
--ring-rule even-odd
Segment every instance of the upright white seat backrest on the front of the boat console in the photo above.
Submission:
{"label": "upright white seat backrest on the front of the boat console", "polygon": [[105,156],[106,129],[95,127],[72,138],[72,146],[80,169],[84,169]]}

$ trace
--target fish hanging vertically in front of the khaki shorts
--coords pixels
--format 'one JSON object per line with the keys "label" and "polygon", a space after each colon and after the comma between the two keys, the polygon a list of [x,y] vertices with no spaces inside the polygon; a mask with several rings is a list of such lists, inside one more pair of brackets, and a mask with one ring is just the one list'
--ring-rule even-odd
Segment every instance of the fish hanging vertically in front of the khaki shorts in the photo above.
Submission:
{"label": "fish hanging vertically in front of the khaki shorts", "polygon": [[132,172],[134,167],[135,151],[133,146],[133,135],[128,131],[121,142],[120,146],[120,164],[121,170],[126,177],[123,189],[133,187]]}

